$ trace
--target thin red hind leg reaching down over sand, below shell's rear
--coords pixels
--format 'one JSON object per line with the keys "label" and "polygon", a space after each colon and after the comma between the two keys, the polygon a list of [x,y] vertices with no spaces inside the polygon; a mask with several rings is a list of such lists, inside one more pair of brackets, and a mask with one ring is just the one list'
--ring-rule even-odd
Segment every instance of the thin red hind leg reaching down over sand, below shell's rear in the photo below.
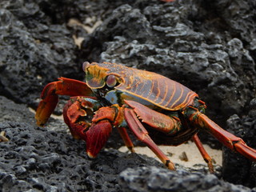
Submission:
{"label": "thin red hind leg reaching down over sand, below shell's rear", "polygon": [[198,134],[194,134],[193,136],[193,141],[195,143],[195,145],[198,147],[198,150],[200,151],[200,153],[202,154],[202,158],[205,160],[205,162],[207,163],[210,173],[214,173],[214,166],[213,166],[213,161],[212,158],[210,158],[210,155],[207,154],[205,148],[202,146],[202,142],[200,141],[200,139],[198,138]]}

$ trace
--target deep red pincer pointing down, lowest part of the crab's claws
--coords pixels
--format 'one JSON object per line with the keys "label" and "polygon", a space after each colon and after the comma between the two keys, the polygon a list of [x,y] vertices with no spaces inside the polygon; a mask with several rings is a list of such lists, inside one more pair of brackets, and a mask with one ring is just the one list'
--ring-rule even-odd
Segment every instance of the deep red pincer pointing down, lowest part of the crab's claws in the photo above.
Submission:
{"label": "deep red pincer pointing down, lowest part of the crab's claws", "polygon": [[86,131],[86,153],[90,158],[95,158],[110,137],[112,125],[108,120],[93,123]]}

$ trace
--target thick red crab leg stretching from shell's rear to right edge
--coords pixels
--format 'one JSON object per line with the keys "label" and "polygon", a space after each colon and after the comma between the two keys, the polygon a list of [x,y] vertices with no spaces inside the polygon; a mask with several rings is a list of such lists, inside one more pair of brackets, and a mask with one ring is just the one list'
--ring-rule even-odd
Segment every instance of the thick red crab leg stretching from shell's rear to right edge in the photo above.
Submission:
{"label": "thick red crab leg stretching from shell's rear to right edge", "polygon": [[222,142],[224,146],[230,148],[230,150],[237,151],[251,161],[256,161],[256,150],[247,146],[242,138],[230,134],[226,130],[223,130],[215,122],[210,120],[205,114],[195,113],[190,116],[191,122],[194,122],[195,126],[200,125],[202,128],[206,129],[210,134],[214,135],[219,142]]}

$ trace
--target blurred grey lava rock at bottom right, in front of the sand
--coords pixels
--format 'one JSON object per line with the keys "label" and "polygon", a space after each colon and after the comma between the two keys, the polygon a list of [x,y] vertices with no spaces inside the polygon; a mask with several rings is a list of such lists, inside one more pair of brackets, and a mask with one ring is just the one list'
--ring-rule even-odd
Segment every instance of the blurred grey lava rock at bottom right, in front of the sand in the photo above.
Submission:
{"label": "blurred grey lava rock at bottom right, in front of the sand", "polygon": [[249,192],[244,186],[234,186],[219,180],[214,174],[188,173],[184,170],[168,171],[158,167],[139,167],[124,170],[119,183],[123,191],[242,191]]}

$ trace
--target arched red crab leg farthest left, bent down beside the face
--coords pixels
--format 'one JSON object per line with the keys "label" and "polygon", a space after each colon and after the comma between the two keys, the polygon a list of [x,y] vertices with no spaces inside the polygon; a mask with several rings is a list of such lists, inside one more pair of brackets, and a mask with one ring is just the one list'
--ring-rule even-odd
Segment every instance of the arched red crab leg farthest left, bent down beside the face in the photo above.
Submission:
{"label": "arched red crab leg farthest left, bent down beside the face", "polygon": [[58,94],[70,96],[93,96],[92,90],[86,85],[85,82],[70,78],[58,78],[58,82],[50,82],[42,90],[42,101],[38,105],[35,118],[38,126],[43,126],[50,114],[54,112],[58,104]]}

